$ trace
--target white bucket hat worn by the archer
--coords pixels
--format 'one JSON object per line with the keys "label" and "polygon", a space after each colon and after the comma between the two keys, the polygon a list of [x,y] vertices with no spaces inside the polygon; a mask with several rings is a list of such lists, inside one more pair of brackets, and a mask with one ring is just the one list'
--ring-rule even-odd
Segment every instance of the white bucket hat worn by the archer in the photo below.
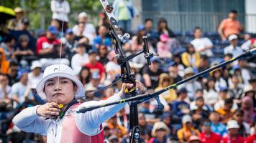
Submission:
{"label": "white bucket hat worn by the archer", "polygon": [[37,84],[37,94],[42,99],[46,99],[46,95],[44,92],[45,82],[48,79],[52,79],[54,77],[65,77],[75,82],[76,86],[78,87],[75,95],[76,99],[78,99],[79,97],[83,97],[83,95],[85,94],[85,89],[83,88],[83,84],[76,77],[73,69],[71,69],[69,66],[66,66],[65,64],[54,64],[51,66],[47,66],[41,81]]}

